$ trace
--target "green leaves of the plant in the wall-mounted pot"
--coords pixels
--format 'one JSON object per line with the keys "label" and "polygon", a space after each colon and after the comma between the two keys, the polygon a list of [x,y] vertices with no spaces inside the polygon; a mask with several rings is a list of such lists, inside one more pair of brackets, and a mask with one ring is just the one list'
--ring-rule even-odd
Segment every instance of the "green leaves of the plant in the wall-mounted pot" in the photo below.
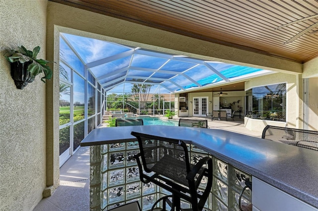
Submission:
{"label": "green leaves of the plant in the wall-mounted pot", "polygon": [[29,62],[27,70],[31,73],[31,75],[36,76],[41,72],[44,72],[44,76],[41,80],[45,83],[45,79],[51,79],[53,71],[47,66],[48,63],[52,63],[51,61],[37,59],[37,55],[40,52],[40,47],[37,46],[33,49],[33,51],[29,51],[24,46],[17,47],[17,49],[10,49],[4,54],[4,57],[10,62],[19,62],[26,63]]}

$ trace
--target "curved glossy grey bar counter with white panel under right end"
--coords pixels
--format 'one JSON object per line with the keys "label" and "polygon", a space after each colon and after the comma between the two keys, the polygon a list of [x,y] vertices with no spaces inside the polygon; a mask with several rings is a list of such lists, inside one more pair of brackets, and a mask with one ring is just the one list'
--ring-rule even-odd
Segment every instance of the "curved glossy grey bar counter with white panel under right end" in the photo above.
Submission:
{"label": "curved glossy grey bar counter with white panel under right end", "polygon": [[318,210],[318,151],[219,129],[161,125],[98,128],[80,145],[136,141],[132,131],[193,144],[250,174],[253,211]]}

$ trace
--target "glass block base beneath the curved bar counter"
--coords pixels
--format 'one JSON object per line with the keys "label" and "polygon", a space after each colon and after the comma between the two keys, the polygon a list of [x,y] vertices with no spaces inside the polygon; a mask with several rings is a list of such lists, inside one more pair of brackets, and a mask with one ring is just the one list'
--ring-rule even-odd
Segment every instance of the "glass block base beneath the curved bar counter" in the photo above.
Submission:
{"label": "glass block base beneath the curved bar counter", "polygon": [[[193,164],[208,154],[190,144],[188,149]],[[140,182],[133,158],[138,152],[137,141],[90,146],[90,211],[107,211],[133,201],[138,201],[143,211],[149,211],[160,197],[170,194],[153,183]],[[245,180],[251,180],[250,175],[209,156],[213,159],[214,179],[204,210],[239,211],[239,195]],[[241,204],[249,204],[250,199],[251,193],[246,189]],[[190,205],[181,202],[181,208]]]}

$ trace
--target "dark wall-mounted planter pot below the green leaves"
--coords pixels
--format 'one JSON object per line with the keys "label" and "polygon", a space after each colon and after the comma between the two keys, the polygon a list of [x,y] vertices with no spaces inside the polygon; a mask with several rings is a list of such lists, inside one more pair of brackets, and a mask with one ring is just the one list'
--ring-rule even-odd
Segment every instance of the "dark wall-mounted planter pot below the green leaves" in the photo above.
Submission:
{"label": "dark wall-mounted planter pot below the green leaves", "polygon": [[11,77],[18,89],[23,89],[28,83],[34,81],[35,76],[27,70],[31,62],[19,63],[13,62],[11,65]]}

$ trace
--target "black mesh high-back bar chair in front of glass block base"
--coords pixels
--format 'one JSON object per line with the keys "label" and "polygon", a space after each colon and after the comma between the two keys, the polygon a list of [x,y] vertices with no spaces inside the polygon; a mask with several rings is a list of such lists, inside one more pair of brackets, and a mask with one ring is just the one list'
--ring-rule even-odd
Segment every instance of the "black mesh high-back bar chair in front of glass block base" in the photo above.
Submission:
{"label": "black mesh high-back bar chair in front of glass block base", "polygon": [[[140,180],[146,184],[152,182],[171,193],[157,200],[151,211],[160,201],[163,201],[163,211],[166,204],[171,210],[180,211],[181,199],[191,204],[192,211],[202,211],[212,187],[212,159],[203,157],[193,165],[183,141],[137,132],[131,134],[138,139],[140,147],[140,153],[135,155]],[[205,188],[203,193],[198,194],[201,182],[204,182],[202,187]]]}

